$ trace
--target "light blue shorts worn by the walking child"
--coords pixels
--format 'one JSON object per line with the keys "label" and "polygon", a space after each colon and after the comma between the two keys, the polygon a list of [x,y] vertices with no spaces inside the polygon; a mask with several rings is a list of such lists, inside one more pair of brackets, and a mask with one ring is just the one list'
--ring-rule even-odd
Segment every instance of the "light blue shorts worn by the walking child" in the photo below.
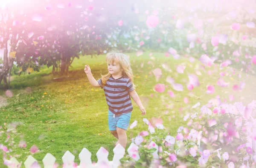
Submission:
{"label": "light blue shorts worn by the walking child", "polygon": [[131,112],[114,115],[113,112],[108,110],[108,127],[110,131],[115,131],[116,127],[121,129],[128,129],[131,119]]}

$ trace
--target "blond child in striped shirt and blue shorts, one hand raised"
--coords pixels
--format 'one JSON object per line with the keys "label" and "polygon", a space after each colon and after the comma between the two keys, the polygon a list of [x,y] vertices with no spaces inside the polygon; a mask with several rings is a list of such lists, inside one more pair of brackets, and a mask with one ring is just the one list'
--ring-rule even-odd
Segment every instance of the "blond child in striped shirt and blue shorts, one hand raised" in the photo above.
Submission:
{"label": "blond child in striped shirt and blue shorts, one hand raised", "polygon": [[89,65],[85,65],[84,72],[93,87],[101,87],[104,90],[108,104],[109,130],[118,139],[116,145],[120,143],[125,148],[127,143],[125,131],[129,126],[133,110],[131,98],[139,106],[141,115],[145,115],[146,110],[134,90],[133,73],[128,56],[111,51],[106,55],[106,62],[108,73],[97,81]]}

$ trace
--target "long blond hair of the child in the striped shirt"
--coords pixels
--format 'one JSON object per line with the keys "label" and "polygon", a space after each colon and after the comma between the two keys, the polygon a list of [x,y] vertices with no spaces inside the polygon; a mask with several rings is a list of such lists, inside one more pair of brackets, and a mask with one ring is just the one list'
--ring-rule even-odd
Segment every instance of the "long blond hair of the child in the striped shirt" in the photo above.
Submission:
{"label": "long blond hair of the child in the striped shirt", "polygon": [[[117,51],[111,50],[106,55],[106,62],[107,64],[109,64],[113,63],[114,61],[120,64],[120,68],[122,69],[122,75],[130,78],[132,86],[135,89],[136,86],[134,85],[134,75],[132,73],[129,57],[124,53],[119,53]],[[102,87],[105,86],[110,76],[111,74],[109,72],[106,75],[102,75]]]}

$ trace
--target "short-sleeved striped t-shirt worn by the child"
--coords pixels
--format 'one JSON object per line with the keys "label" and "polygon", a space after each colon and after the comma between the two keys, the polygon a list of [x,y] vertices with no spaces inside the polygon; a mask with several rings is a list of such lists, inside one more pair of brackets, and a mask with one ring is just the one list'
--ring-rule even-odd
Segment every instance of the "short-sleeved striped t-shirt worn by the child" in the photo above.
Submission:
{"label": "short-sleeved striped t-shirt worn by the child", "polygon": [[102,87],[101,78],[97,81],[105,92],[109,111],[119,115],[133,110],[129,91],[134,88],[130,78],[122,76],[115,79],[111,75],[104,87]]}

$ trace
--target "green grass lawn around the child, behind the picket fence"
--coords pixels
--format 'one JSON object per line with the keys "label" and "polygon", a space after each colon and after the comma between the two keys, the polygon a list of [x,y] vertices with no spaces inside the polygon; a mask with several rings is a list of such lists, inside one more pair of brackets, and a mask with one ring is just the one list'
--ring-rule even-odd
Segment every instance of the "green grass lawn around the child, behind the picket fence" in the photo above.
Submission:
{"label": "green grass lawn around the child, behind the picket fence", "polygon": [[[207,75],[207,70],[200,68],[201,62],[195,61],[190,63],[188,59],[173,59],[165,57],[164,53],[144,53],[142,56],[136,56],[135,53],[129,53],[131,56],[132,69],[134,71],[134,83],[137,85],[137,93],[147,111],[147,115],[142,116],[139,108],[133,101],[134,110],[131,115],[130,124],[134,120],[138,121],[134,129],[127,130],[128,144],[131,144],[131,138],[143,130],[148,130],[143,118],[151,119],[162,118],[166,132],[175,136],[179,126],[186,126],[183,116],[191,112],[191,107],[197,102],[201,105],[206,104],[209,99],[215,98],[216,95],[221,96],[221,100],[228,99],[229,94],[236,96],[236,101],[240,101],[243,96],[244,102],[250,102],[253,99],[252,90],[255,90],[255,79],[251,76],[246,77],[242,73],[242,79],[227,76],[225,80],[233,84],[239,84],[244,80],[247,82],[244,92],[233,92],[230,87],[223,88],[216,84],[219,78],[219,65],[216,68],[208,68],[212,70],[212,75]],[[154,57],[152,59],[151,57]],[[151,64],[148,64],[148,61]],[[143,67],[140,64],[144,63]],[[186,64],[184,73],[177,73],[176,66]],[[90,86],[84,73],[84,65],[89,64],[93,76],[98,79],[100,74],[107,73],[107,64],[105,63],[105,55],[90,58],[90,56],[81,56],[75,59],[70,67],[69,77],[72,79],[64,79],[55,81],[52,76],[51,68],[42,69],[40,72],[33,72],[30,75],[15,76],[11,81],[12,98],[5,96],[6,90],[0,90],[0,96],[7,100],[7,105],[0,107],[0,143],[12,149],[12,156],[17,154],[17,160],[25,161],[31,154],[29,149],[31,146],[38,146],[39,150],[32,156],[42,165],[42,159],[47,153],[56,157],[56,162],[62,163],[61,157],[64,152],[69,150],[76,156],[75,162],[79,163],[79,153],[82,148],[86,147],[91,153],[92,161],[97,161],[96,152],[102,146],[109,151],[108,159],[113,159],[113,145],[116,138],[108,130],[108,106],[106,104],[105,95],[102,89]],[[169,66],[169,71],[165,70],[162,64]],[[155,68],[162,69],[163,76],[156,81],[153,73]],[[188,74],[201,72],[199,77],[200,86],[189,91],[186,84],[189,81]],[[239,72],[238,72],[239,73]],[[176,83],[183,84],[183,91],[178,92],[172,89],[172,86],[166,82],[166,78],[170,76],[175,78]],[[240,80],[240,81],[239,81]],[[154,85],[157,83],[167,84],[165,92],[154,92]],[[207,94],[207,85],[215,85],[216,92]],[[29,87],[29,88],[28,88]],[[30,91],[31,90],[31,91]],[[172,90],[175,98],[169,97],[167,91]],[[153,94],[153,97],[150,95]],[[189,103],[185,104],[183,98],[189,98]],[[167,109],[166,105],[169,106]],[[168,110],[168,113],[166,112]],[[17,124],[17,133],[11,133],[9,142],[4,141],[7,138],[6,130],[9,129],[11,123]],[[15,146],[8,146],[13,139]],[[20,140],[25,140],[27,147],[20,148],[18,144]],[[0,153],[0,165],[3,163],[3,154]],[[9,159],[9,158],[8,158]],[[7,166],[2,166],[7,167]],[[22,165],[23,167],[23,165]]]}

